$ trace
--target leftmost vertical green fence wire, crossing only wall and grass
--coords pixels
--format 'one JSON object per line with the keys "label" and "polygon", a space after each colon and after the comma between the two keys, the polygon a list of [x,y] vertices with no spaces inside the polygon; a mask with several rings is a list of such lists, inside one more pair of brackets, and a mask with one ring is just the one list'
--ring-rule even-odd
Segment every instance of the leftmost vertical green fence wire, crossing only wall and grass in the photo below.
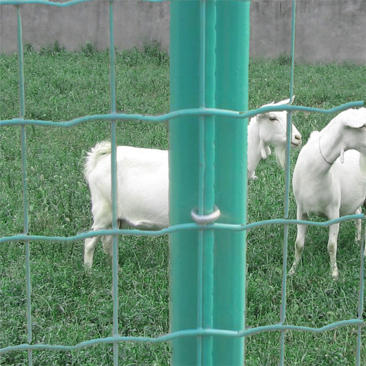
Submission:
{"label": "leftmost vertical green fence wire, crossing only wall and grass", "polygon": [[[18,64],[19,64],[19,109],[20,118],[25,115],[25,91],[24,91],[24,52],[22,42],[22,26],[20,5],[17,9],[17,36],[18,36]],[[23,189],[23,232],[28,234],[28,187],[27,187],[27,133],[25,125],[20,127],[20,148],[21,148],[21,176]],[[30,280],[30,248],[29,241],[24,242],[25,246],[25,288],[27,294],[27,342],[32,343],[32,303],[31,303],[31,280]],[[28,365],[33,364],[33,351],[28,349]]]}

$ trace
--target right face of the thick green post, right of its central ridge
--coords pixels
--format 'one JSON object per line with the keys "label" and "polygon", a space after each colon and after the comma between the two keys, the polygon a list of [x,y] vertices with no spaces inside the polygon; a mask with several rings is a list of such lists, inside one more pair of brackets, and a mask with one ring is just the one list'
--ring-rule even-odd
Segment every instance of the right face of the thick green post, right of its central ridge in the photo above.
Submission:
{"label": "right face of the thick green post, right of its central ridge", "polygon": [[[216,107],[248,108],[250,1],[217,3]],[[247,126],[216,119],[216,204],[221,223],[246,222]],[[215,232],[214,327],[245,326],[245,232]],[[215,365],[243,365],[243,338],[214,338]]]}

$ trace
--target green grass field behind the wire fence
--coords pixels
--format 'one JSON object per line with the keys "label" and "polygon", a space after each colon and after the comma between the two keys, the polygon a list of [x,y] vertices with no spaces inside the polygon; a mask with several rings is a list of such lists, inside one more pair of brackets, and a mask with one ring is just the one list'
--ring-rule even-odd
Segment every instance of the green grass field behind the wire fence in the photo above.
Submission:
{"label": "green grass field behind the wire fence", "polygon": [[[252,60],[249,107],[282,100],[289,93],[289,65]],[[65,121],[109,112],[109,61],[86,45],[68,53],[59,45],[32,51],[25,47],[26,118]],[[169,61],[156,45],[117,53],[117,110],[160,114],[169,111]],[[330,108],[365,99],[366,66],[296,65],[296,104]],[[0,119],[19,116],[17,56],[0,57]],[[331,116],[295,113],[304,142]],[[229,127],[228,127],[229,128]],[[119,122],[119,144],[168,148],[165,123]],[[91,223],[90,196],[82,176],[86,151],[108,139],[108,122],[88,122],[72,129],[27,127],[29,232],[71,236]],[[291,156],[291,169],[298,150]],[[285,174],[270,157],[249,183],[248,221],[282,218]],[[22,231],[20,127],[0,129],[0,236]],[[290,195],[290,218],[296,204]],[[247,237],[247,324],[279,321],[284,228],[270,225]],[[327,229],[309,227],[302,265],[287,281],[286,324],[320,327],[357,317],[360,250],[353,223],[341,224],[338,264],[333,282],[326,251]],[[296,228],[289,228],[288,263],[293,259]],[[75,345],[112,334],[111,266],[97,247],[90,276],[82,265],[83,243],[32,242],[33,343]],[[169,331],[168,239],[122,237],[119,240],[119,329],[124,336],[158,336]],[[27,342],[25,254],[23,243],[0,244],[0,344]],[[247,339],[247,365],[276,365],[279,332]],[[363,343],[366,343],[365,328]],[[321,334],[288,331],[286,365],[354,365],[356,327]],[[366,364],[365,346],[361,364]],[[121,365],[168,365],[168,344],[119,345]],[[35,365],[111,365],[111,345],[75,352],[34,351]],[[26,352],[3,354],[1,365],[26,365]]]}

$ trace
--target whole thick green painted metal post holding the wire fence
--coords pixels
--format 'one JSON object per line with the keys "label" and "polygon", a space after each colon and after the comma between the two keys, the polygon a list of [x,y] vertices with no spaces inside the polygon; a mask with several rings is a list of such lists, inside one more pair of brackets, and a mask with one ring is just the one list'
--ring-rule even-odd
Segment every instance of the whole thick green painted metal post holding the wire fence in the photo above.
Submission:
{"label": "whole thick green painted metal post holding the wire fence", "polygon": [[[170,110],[247,109],[249,2],[172,1],[170,19]],[[169,132],[170,225],[214,204],[219,222],[244,223],[246,123],[185,117]],[[181,231],[169,247],[170,331],[244,329],[245,234]],[[240,365],[243,354],[243,339],[185,337],[172,341],[171,363]]]}

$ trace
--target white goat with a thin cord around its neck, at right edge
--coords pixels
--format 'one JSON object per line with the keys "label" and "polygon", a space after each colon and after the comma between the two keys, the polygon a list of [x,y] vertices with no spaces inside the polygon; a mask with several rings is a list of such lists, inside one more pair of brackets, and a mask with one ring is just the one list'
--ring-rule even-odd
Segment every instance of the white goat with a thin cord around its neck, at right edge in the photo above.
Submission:
{"label": "white goat with a thin cord around its neck, at right edge", "polygon": [[[366,196],[366,108],[348,109],[320,132],[313,131],[300,151],[292,178],[297,219],[310,215],[336,219],[361,213]],[[361,220],[356,220],[356,241],[361,239]],[[339,224],[329,226],[328,252],[332,277],[336,262]],[[305,243],[306,225],[297,225],[295,273]],[[365,249],[366,255],[366,249]]]}

